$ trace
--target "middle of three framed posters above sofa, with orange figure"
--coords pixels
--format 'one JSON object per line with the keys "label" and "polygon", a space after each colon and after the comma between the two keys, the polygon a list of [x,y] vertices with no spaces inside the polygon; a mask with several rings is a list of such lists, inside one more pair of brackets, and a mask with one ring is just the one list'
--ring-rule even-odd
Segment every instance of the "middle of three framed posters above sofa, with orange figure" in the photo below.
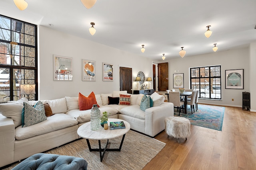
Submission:
{"label": "middle of three framed posters above sofa, with orange figure", "polygon": [[95,63],[82,59],[82,81],[96,81]]}

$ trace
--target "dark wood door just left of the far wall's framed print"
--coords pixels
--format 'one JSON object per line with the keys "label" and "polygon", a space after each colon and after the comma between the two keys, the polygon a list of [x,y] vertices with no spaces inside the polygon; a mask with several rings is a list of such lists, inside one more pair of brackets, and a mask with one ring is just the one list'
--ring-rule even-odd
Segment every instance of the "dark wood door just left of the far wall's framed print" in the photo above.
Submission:
{"label": "dark wood door just left of the far wall's framed print", "polygon": [[168,90],[168,63],[158,64],[158,90]]}

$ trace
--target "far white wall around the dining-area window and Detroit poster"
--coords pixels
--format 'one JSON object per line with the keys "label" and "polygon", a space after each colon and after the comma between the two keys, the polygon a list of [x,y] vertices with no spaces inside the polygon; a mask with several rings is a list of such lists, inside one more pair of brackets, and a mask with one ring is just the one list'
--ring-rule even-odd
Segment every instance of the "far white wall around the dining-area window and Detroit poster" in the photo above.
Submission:
{"label": "far white wall around the dining-area window and Detroit poster", "polygon": [[[250,92],[249,48],[185,56],[184,58],[180,57],[165,62],[169,63],[169,90],[173,89],[173,74],[175,73],[184,73],[184,88],[189,88],[190,67],[221,65],[222,100],[199,100],[199,103],[242,107],[242,92]],[[230,69],[244,69],[244,89],[225,89],[225,70]],[[231,100],[232,98],[234,98],[234,101]]]}

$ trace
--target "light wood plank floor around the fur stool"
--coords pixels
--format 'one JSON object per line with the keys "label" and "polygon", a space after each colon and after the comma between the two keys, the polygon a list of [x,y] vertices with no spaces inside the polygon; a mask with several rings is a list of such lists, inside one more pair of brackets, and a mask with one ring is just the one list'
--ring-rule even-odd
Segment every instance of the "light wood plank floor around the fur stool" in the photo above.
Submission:
{"label": "light wood plank floor around the fur stool", "polygon": [[165,132],[164,149],[143,170],[256,170],[256,113],[226,107],[222,131],[191,125],[187,141]]}

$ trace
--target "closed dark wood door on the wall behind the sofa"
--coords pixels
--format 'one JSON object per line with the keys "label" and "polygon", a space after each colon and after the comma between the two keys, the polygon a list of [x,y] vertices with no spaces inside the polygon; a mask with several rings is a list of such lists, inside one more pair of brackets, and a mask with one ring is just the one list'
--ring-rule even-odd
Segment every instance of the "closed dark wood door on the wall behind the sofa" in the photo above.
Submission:
{"label": "closed dark wood door on the wall behind the sofa", "polygon": [[119,67],[120,89],[132,94],[132,68]]}

